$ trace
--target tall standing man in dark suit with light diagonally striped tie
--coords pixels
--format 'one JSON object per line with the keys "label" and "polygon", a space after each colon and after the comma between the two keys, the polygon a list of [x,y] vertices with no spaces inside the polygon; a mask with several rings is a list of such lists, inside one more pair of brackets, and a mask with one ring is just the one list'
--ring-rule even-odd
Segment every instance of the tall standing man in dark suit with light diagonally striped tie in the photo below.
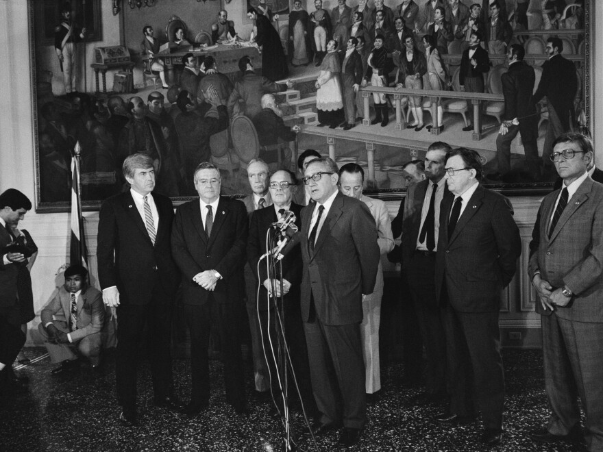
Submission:
{"label": "tall standing man in dark suit with light diagonally striped tie", "polygon": [[128,155],[123,175],[130,190],[101,205],[97,258],[106,305],[117,307],[117,399],[125,425],[136,424],[136,363],[138,343],[148,325],[156,405],[174,407],[171,368],[171,306],[180,275],[171,257],[174,216],[169,198],[153,193],[153,159]]}

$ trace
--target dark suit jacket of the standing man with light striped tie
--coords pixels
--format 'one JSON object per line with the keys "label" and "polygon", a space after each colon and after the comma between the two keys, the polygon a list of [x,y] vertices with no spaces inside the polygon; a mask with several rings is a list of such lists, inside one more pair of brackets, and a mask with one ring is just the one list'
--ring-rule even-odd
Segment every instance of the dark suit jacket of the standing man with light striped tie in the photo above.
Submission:
{"label": "dark suit jacket of the standing man with light striped tie", "polygon": [[170,295],[180,284],[170,248],[172,203],[160,194],[152,196],[159,214],[154,246],[130,190],[106,199],[101,205],[97,245],[99,282],[101,289],[117,286],[121,305],[149,303],[158,279]]}

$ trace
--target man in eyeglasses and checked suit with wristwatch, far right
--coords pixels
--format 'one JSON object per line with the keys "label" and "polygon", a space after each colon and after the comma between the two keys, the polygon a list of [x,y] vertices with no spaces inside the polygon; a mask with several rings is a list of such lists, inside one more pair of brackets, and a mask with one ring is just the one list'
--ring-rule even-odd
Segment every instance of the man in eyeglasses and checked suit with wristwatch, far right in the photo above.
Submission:
{"label": "man in eyeglasses and checked suit with wristwatch, far right", "polygon": [[582,442],[603,450],[603,185],[589,177],[591,140],[562,134],[551,160],[563,188],[542,201],[528,266],[541,314],[545,388],[551,415],[530,432],[540,443]]}

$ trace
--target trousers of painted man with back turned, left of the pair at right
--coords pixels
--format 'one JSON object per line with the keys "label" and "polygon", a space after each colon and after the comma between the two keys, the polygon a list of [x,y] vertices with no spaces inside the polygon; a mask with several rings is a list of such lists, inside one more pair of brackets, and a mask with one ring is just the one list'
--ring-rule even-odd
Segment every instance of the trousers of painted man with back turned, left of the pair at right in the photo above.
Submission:
{"label": "trousers of painted man with back turned, left of the pair at right", "polygon": [[496,137],[496,158],[498,161],[498,172],[506,175],[511,171],[511,142],[513,138],[521,134],[521,143],[524,145],[526,163],[533,171],[539,161],[538,156],[538,117],[531,116],[519,121],[519,125],[510,125],[506,134],[498,134]]}

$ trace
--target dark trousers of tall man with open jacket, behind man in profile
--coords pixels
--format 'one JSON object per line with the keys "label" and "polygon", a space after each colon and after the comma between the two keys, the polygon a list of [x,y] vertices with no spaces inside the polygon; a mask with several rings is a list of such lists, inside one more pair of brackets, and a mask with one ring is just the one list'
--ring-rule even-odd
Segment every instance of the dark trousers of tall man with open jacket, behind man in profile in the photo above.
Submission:
{"label": "dark trousers of tall man with open jacket, behind man in profile", "polygon": [[441,309],[435,292],[435,253],[426,255],[415,251],[406,268],[410,297],[415,305],[419,331],[427,355],[427,391],[430,394],[446,394],[446,338]]}

